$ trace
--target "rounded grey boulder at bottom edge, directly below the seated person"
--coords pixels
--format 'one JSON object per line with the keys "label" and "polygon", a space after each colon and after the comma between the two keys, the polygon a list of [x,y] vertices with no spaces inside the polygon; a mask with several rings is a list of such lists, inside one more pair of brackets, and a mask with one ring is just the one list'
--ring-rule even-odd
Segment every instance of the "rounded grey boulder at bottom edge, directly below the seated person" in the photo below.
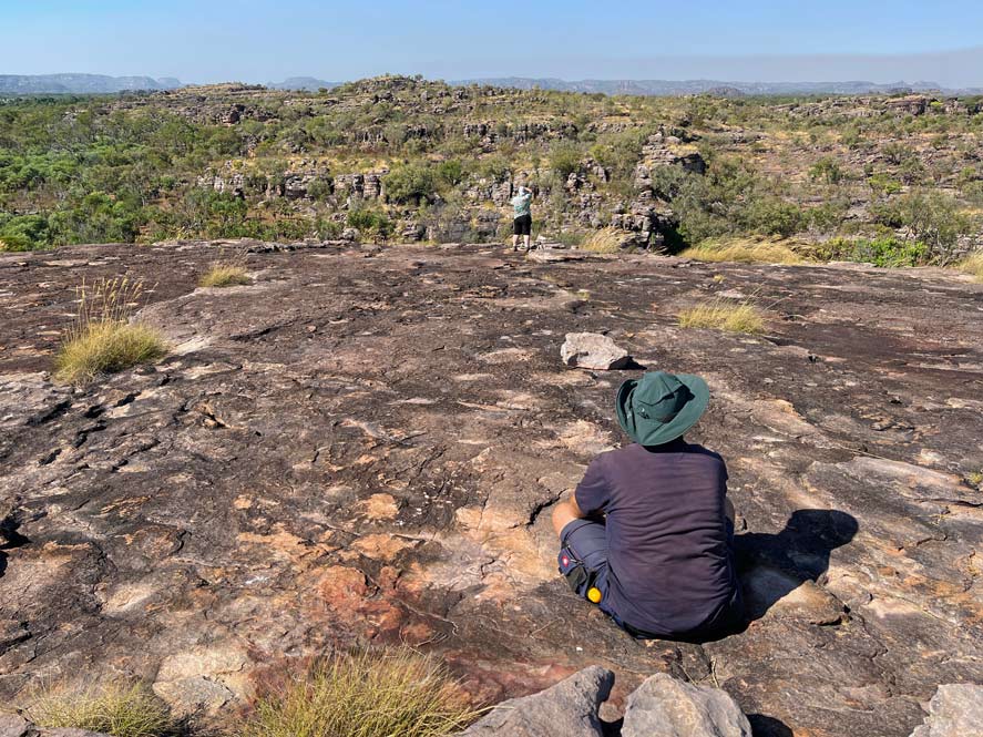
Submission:
{"label": "rounded grey boulder at bottom edge, directly below the seated person", "polygon": [[628,696],[622,737],[751,737],[751,726],[727,692],[659,673]]}

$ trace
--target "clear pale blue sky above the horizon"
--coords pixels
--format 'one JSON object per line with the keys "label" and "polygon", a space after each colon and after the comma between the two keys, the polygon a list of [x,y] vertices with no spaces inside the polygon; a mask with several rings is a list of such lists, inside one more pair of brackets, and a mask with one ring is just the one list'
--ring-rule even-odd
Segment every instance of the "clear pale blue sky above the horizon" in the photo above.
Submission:
{"label": "clear pale blue sky above the horizon", "polygon": [[0,29],[7,74],[983,85],[980,0],[0,0]]}

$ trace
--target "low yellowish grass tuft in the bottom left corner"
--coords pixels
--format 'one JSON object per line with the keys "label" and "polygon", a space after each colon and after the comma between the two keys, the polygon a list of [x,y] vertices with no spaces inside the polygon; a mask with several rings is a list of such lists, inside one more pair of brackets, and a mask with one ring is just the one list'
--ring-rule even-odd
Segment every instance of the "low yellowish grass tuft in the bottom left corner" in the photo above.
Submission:
{"label": "low yellowish grass tuft in the bottom left corner", "polygon": [[114,683],[85,690],[49,689],[32,699],[27,718],[48,728],[114,737],[171,737],[182,733],[166,704],[143,684]]}

